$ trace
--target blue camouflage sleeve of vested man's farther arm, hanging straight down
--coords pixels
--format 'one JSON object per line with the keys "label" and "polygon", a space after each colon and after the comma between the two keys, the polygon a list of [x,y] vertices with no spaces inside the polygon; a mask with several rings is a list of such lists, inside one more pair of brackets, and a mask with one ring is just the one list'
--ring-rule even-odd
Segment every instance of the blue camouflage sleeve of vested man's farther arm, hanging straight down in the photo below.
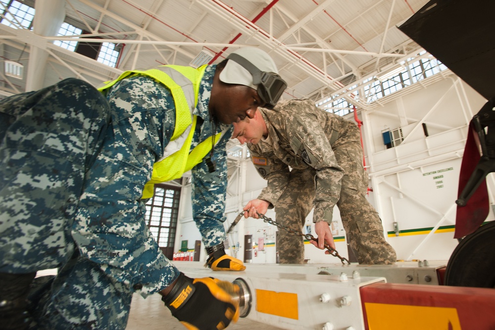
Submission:
{"label": "blue camouflage sleeve of vested man's farther arm, hanging straight down", "polygon": [[216,170],[209,173],[205,159],[192,169],[193,218],[198,226],[206,247],[218,245],[226,239],[225,195],[227,193],[227,152],[226,145],[232,135],[231,127],[213,149],[212,160]]}

